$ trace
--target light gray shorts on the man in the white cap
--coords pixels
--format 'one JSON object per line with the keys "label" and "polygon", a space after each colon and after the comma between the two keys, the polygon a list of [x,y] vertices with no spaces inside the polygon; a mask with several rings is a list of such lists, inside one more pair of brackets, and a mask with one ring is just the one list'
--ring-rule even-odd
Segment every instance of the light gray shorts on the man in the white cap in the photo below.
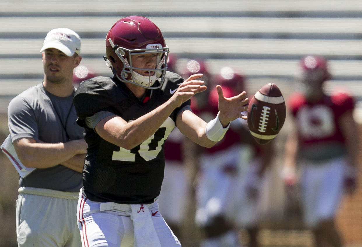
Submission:
{"label": "light gray shorts on the man in the white cap", "polygon": [[77,226],[78,194],[19,188],[16,234],[19,247],[81,247]]}

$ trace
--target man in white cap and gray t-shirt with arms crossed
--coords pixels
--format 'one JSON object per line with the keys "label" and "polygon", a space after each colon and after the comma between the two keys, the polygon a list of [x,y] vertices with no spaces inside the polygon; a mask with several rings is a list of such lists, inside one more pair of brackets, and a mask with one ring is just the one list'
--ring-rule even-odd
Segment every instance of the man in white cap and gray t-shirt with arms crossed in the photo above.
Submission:
{"label": "man in white cap and gray t-shirt with arms crossed", "polygon": [[81,61],[80,38],[58,28],[46,35],[44,81],[9,103],[12,144],[22,164],[36,168],[19,180],[18,246],[80,246],[74,221],[87,144],[76,125],[73,68]]}

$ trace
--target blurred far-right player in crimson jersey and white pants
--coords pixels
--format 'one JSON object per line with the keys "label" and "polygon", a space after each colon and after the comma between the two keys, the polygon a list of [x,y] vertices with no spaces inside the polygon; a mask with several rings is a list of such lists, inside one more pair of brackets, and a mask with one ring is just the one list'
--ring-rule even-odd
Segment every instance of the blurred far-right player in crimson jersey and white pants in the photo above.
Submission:
{"label": "blurred far-right player in crimson jersey and white pants", "polygon": [[327,60],[308,55],[300,60],[302,92],[290,96],[294,119],[285,146],[285,181],[296,182],[300,166],[304,223],[313,230],[316,246],[342,246],[334,222],[343,189],[356,187],[358,152],[354,99],[342,92],[327,95]]}

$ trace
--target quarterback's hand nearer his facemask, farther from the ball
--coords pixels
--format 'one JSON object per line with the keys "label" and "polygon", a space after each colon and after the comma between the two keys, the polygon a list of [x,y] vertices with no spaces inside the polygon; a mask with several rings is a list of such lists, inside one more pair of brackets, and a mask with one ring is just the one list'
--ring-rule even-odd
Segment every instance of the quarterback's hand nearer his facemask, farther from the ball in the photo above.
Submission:
{"label": "quarterback's hand nearer his facemask, farther from the ball", "polygon": [[178,86],[178,89],[171,97],[172,105],[176,108],[190,99],[193,95],[206,90],[205,82],[196,80],[203,74],[193,74]]}

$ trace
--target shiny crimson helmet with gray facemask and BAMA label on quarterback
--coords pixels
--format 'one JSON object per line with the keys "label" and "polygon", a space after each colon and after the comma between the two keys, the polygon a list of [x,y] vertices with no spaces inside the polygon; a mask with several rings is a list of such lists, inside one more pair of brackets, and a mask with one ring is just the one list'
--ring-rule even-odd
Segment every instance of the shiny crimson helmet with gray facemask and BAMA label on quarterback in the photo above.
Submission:
{"label": "shiny crimson helmet with gray facemask and BAMA label on quarterback", "polygon": [[[167,70],[166,46],[161,30],[152,21],[142,16],[129,16],[115,22],[106,36],[106,65],[123,82],[129,82],[148,89],[160,88]],[[132,66],[132,55],[156,54],[154,69]],[[148,71],[143,76],[134,69]],[[159,84],[155,84],[156,80]]]}

